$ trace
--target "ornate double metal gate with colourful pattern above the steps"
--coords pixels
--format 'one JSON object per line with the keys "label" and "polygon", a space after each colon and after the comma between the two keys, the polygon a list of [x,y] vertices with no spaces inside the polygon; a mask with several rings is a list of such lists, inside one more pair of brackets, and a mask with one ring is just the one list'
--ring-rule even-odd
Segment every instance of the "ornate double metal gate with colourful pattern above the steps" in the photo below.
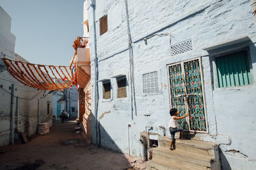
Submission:
{"label": "ornate double metal gate with colourful pattern above the steps", "polygon": [[180,111],[179,126],[190,132],[208,132],[205,113],[201,58],[170,64],[168,67],[170,105]]}

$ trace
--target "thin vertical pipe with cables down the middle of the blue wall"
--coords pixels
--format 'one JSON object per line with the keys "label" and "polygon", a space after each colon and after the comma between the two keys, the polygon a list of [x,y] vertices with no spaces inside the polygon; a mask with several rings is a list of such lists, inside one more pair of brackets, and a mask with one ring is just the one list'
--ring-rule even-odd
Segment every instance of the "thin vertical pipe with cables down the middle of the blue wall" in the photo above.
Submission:
{"label": "thin vertical pipe with cables down the middle of the blue wall", "polygon": [[129,13],[128,13],[128,4],[127,0],[125,1],[125,12],[126,12],[126,21],[127,21],[127,33],[129,39],[129,61],[130,61],[130,81],[131,81],[131,110],[132,110],[132,120],[133,120],[133,99],[134,99],[134,111],[137,116],[136,108],[136,99],[135,99],[135,88],[134,88],[134,63],[133,63],[133,50],[132,50],[132,39],[131,39],[131,30],[129,24]]}

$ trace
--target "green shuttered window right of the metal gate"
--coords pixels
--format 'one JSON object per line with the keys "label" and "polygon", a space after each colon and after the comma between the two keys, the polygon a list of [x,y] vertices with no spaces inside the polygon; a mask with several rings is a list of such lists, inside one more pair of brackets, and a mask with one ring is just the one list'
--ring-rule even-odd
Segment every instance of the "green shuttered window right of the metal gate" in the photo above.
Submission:
{"label": "green shuttered window right of the metal gate", "polygon": [[218,87],[252,84],[246,51],[216,57],[215,62]]}

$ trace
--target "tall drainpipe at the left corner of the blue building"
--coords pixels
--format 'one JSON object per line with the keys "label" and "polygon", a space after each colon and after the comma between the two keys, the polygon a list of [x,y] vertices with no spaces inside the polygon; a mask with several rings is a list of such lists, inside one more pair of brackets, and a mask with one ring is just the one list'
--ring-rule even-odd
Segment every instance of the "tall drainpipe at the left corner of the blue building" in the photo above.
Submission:
{"label": "tall drainpipe at the left corner of the blue building", "polygon": [[[94,101],[95,101],[95,104],[94,104],[94,111],[95,111],[95,129],[96,129],[96,143],[98,146],[99,143],[98,143],[98,104],[99,104],[99,94],[98,94],[98,76],[99,76],[99,73],[98,73],[98,56],[97,56],[97,38],[96,38],[96,25],[95,25],[95,0],[91,0],[90,1],[90,6],[92,7],[93,9],[93,45],[94,45],[94,90],[95,90],[95,95],[94,95]],[[99,136],[100,138],[100,136]]]}

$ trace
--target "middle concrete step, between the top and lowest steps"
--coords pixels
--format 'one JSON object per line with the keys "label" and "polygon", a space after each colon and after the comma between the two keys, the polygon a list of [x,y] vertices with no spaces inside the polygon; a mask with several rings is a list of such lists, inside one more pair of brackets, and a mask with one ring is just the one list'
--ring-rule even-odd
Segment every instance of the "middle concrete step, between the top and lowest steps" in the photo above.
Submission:
{"label": "middle concrete step, between the top and lowest steps", "polygon": [[214,159],[209,156],[191,152],[184,152],[182,150],[170,150],[169,148],[162,147],[157,147],[153,149],[153,160],[154,159],[161,159],[166,162],[188,162],[203,167],[211,167],[211,163],[214,162]]}

